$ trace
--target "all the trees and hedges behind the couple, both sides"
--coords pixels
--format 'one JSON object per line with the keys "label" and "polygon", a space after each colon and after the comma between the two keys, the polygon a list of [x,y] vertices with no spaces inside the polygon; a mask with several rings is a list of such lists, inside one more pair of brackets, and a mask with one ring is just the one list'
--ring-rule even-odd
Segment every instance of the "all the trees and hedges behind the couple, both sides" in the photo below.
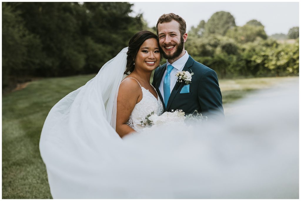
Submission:
{"label": "all the trees and hedges behind the couple, both sides", "polygon": [[[32,77],[96,73],[140,30],[129,2],[3,2],[2,89]],[[298,34],[296,32],[298,31]],[[299,37],[299,27],[292,31]],[[299,74],[299,38],[279,43],[251,20],[216,12],[188,32],[185,49],[219,78]]]}

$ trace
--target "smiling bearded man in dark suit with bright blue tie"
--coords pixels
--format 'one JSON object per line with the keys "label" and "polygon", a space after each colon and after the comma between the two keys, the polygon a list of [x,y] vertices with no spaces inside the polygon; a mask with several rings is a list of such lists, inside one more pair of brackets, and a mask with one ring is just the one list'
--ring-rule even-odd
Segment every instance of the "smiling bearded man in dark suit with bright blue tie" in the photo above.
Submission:
{"label": "smiling bearded man in dark suit with bright blue tie", "polygon": [[[159,89],[164,111],[182,109],[187,115],[197,110],[208,120],[224,117],[216,72],[195,61],[184,48],[188,36],[185,20],[174,13],[163,14],[157,22],[157,34],[160,52],[167,61],[155,70],[152,84]],[[175,76],[179,71],[193,74],[191,83]],[[186,78],[189,82],[190,76]]]}

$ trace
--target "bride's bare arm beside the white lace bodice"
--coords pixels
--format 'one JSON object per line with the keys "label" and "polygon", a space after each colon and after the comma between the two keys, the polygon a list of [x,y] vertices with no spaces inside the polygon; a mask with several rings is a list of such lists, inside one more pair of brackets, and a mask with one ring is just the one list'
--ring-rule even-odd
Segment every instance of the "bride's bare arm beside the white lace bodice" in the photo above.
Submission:
{"label": "bride's bare arm beside the white lace bodice", "polygon": [[127,79],[119,86],[117,96],[116,132],[120,137],[135,132],[126,125],[135,105],[142,99],[140,85],[134,79]]}

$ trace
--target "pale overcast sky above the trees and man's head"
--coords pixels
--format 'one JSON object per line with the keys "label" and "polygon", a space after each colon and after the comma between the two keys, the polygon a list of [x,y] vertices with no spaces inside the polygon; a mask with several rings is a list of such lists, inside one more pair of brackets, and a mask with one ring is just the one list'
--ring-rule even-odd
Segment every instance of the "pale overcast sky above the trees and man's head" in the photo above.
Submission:
{"label": "pale overcast sky above the trees and man's head", "polygon": [[148,26],[156,26],[164,13],[175,13],[186,21],[187,31],[218,11],[230,12],[237,26],[256,19],[265,26],[268,35],[287,34],[299,26],[299,2],[131,2],[133,15],[143,13]]}

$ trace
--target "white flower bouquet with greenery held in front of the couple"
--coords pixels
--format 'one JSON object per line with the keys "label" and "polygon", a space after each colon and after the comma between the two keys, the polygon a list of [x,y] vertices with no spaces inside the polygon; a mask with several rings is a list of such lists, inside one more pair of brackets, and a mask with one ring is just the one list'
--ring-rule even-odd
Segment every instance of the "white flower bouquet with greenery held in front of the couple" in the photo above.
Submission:
{"label": "white flower bouquet with greenery held in front of the couple", "polygon": [[[196,115],[194,113],[196,112]],[[195,122],[202,122],[207,120],[206,116],[197,113],[197,110],[194,111],[193,114],[189,114],[185,116],[185,112],[182,110],[172,110],[171,112],[164,112],[160,116],[151,112],[145,117],[144,121],[141,121],[142,126],[151,126],[152,128],[162,125],[177,125],[177,126],[188,126]]]}

